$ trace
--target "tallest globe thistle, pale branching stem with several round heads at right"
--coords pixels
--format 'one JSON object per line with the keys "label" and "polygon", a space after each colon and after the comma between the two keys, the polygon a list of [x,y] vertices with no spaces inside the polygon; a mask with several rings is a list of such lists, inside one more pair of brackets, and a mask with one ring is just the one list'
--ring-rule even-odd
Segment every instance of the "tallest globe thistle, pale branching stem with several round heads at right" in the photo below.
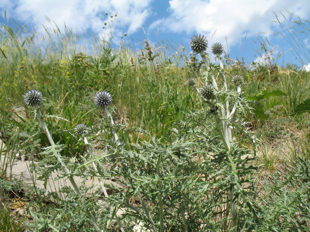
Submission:
{"label": "tallest globe thistle, pale branching stem with several round heads at right", "polygon": [[[226,77],[225,77],[225,68],[220,57],[224,52],[223,45],[220,43],[215,43],[211,47],[212,54],[216,56],[216,61],[219,62],[219,67],[216,67],[216,64],[210,65],[210,58],[205,52],[207,49],[208,41],[202,35],[196,35],[190,40],[190,48],[194,53],[199,53],[201,56],[202,62],[206,65],[207,71],[204,72],[205,85],[203,85],[197,92],[201,97],[204,98],[204,102],[208,103],[210,107],[210,113],[213,115],[217,131],[223,143],[228,163],[228,172],[236,173],[233,157],[230,153],[232,144],[234,143],[232,138],[232,123],[233,118],[235,117],[235,112],[237,111],[238,106],[240,106],[240,100],[244,102],[245,100],[240,97],[241,86],[244,83],[242,76],[236,75],[232,77],[232,84],[237,87],[237,92],[229,90]],[[218,80],[221,77],[222,83],[219,83]],[[189,80],[188,82],[192,84]],[[187,84],[188,84],[187,82]],[[232,105],[232,97],[235,97],[235,102]],[[238,115],[238,117],[240,117]],[[238,175],[231,175],[230,182],[233,185],[239,180]],[[230,200],[230,217],[232,222],[233,231],[237,232],[238,225],[238,211],[236,208],[236,194],[235,187],[231,187],[228,191],[228,198]]]}

